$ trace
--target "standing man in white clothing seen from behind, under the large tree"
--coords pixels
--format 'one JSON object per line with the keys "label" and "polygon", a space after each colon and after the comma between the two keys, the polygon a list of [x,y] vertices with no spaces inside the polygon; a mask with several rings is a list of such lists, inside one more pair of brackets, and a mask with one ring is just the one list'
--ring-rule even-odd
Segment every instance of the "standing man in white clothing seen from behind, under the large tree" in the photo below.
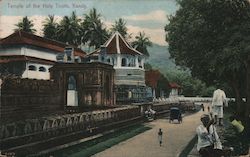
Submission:
{"label": "standing man in white clothing seen from behind, under the large tree", "polygon": [[219,125],[222,125],[223,120],[223,105],[228,106],[227,97],[223,90],[217,89],[213,93],[212,100],[212,114],[215,118],[215,122],[217,123],[217,119],[219,118]]}

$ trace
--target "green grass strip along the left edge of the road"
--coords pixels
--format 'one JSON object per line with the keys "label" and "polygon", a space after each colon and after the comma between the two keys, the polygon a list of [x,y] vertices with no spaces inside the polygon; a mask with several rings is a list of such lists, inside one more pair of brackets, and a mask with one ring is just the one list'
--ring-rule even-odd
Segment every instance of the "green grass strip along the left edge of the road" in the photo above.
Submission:
{"label": "green grass strip along the left edge of the road", "polygon": [[55,157],[89,157],[149,129],[141,124],[134,125],[51,154]]}

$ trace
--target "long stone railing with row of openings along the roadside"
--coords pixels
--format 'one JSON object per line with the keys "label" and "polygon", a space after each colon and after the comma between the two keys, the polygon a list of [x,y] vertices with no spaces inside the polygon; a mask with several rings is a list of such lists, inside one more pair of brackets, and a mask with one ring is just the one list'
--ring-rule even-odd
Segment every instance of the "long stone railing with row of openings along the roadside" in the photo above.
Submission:
{"label": "long stone railing with row of openings along the roadside", "polygon": [[[126,106],[93,112],[54,115],[0,125],[0,140],[38,135],[49,137],[79,130],[100,127],[140,116],[137,106]],[[38,137],[38,138],[39,138]],[[37,137],[36,137],[37,138]]]}

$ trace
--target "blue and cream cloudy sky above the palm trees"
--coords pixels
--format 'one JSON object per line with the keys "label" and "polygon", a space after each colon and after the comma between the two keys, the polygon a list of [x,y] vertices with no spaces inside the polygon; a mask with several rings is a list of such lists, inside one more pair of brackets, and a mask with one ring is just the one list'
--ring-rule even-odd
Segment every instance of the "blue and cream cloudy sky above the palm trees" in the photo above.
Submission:
{"label": "blue and cream cloudy sky above the palm trees", "polygon": [[83,17],[92,8],[102,15],[108,28],[123,18],[132,37],[144,31],[152,42],[167,45],[164,26],[167,16],[174,14],[178,6],[175,0],[0,0],[0,38],[13,33],[15,24],[24,16],[34,22],[36,34],[42,36],[43,21],[48,15],[54,15],[59,22],[72,11]]}

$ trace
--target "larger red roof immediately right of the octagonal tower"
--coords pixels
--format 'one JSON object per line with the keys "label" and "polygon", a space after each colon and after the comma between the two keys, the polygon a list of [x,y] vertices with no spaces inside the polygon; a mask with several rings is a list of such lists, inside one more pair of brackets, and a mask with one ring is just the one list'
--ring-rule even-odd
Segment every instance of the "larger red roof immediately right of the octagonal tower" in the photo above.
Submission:
{"label": "larger red roof immediately right of the octagonal tower", "polygon": [[145,82],[146,85],[152,88],[157,87],[157,82],[161,77],[161,73],[159,70],[149,70],[145,71]]}

